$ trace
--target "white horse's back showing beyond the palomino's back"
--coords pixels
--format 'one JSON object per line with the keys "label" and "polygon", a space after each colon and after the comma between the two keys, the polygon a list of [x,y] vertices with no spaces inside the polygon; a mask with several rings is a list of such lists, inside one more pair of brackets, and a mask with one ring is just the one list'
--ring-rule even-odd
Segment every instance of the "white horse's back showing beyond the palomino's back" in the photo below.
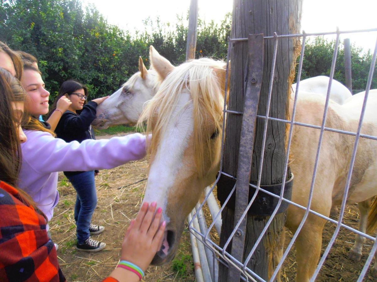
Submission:
{"label": "white horse's back showing beyond the palomino's back", "polygon": [[[300,81],[299,91],[301,95],[310,93],[321,94],[326,97],[330,78],[328,76],[315,76]],[[291,99],[294,99],[297,83],[292,84]],[[343,105],[345,100],[352,97],[352,93],[339,81],[333,79],[330,89],[330,99]]]}

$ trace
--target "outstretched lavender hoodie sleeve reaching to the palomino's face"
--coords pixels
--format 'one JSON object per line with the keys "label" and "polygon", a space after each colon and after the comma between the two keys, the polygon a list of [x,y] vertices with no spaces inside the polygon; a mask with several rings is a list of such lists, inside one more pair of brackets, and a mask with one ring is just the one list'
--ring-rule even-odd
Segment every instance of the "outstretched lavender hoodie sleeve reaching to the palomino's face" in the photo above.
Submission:
{"label": "outstretched lavender hoodie sleeve reaching to the palomino's face", "polygon": [[108,169],[146,155],[146,137],[139,133],[111,139],[66,143],[47,132],[27,130],[21,144],[23,161],[38,173]]}

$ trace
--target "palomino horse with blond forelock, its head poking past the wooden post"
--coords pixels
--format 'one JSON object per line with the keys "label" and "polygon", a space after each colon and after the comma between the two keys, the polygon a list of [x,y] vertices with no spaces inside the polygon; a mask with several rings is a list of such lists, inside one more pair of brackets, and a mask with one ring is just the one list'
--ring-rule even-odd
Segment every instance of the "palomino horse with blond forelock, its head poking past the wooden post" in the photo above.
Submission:
{"label": "palomino horse with blond forelock, its head poking past the wooden post", "polygon": [[[167,232],[161,250],[153,263],[169,262],[178,247],[187,214],[195,206],[204,187],[211,183],[219,167],[221,120],[225,70],[222,62],[200,59],[179,67],[166,65],[152,56],[153,69],[162,82],[155,97],[147,104],[139,123],[147,120],[152,132],[149,145],[151,161],[145,201],[157,201],[164,208]],[[361,96],[351,103],[339,105],[329,101],[326,127],[356,132],[362,105]],[[320,125],[325,98],[300,95],[296,121]],[[374,111],[377,97],[369,97],[363,134],[377,135]],[[314,160],[320,131],[294,126],[291,144],[295,175],[292,200],[307,206]],[[342,201],[348,165],[355,137],[325,131],[319,156],[311,209],[329,215],[331,205]],[[377,143],[361,138],[348,194],[349,203],[361,203],[377,194],[371,181],[377,169],[374,156]],[[290,206],[287,226],[294,232],[303,211]],[[308,281],[316,268],[322,246],[322,230],[326,220],[309,214],[296,241],[297,280]]]}

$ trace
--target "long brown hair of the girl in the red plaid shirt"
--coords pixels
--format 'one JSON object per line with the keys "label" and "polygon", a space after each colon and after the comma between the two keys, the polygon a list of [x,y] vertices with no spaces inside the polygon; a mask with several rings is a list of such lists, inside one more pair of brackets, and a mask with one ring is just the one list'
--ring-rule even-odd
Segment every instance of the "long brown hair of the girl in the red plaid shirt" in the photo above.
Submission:
{"label": "long brown hair of the girl in the red plaid shirt", "polygon": [[12,185],[20,193],[25,205],[31,205],[39,214],[44,215],[29,194],[16,186],[21,168],[21,149],[15,127],[18,120],[15,118],[12,102],[23,102],[25,97],[26,92],[20,82],[9,71],[0,68],[0,181]]}

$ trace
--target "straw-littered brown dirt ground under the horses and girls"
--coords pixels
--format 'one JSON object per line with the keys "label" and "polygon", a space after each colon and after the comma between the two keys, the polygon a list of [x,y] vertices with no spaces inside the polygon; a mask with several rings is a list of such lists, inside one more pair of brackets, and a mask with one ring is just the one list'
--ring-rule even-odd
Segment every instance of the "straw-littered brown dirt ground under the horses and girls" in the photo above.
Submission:
{"label": "straw-littered brown dirt ground under the horses and girls", "polygon": [[[109,138],[100,136],[99,138]],[[58,189],[60,201],[50,222],[52,239],[58,243],[58,260],[67,281],[101,281],[111,273],[120,258],[123,235],[130,219],[134,218],[143,199],[146,185],[147,160],[130,162],[111,170],[102,170],[96,178],[98,204],[92,223],[105,226],[105,231],[93,236],[106,243],[106,249],[98,253],[75,250],[74,205],[76,193],[62,173]],[[343,223],[357,228],[359,211],[357,205],[346,208]],[[322,252],[335,230],[335,224],[327,223],[323,232]],[[290,232],[287,232],[291,238]],[[213,239],[218,238],[213,234]],[[355,235],[344,228],[340,230],[334,246],[320,271],[317,281],[356,281],[371,250],[371,241],[366,241],[360,262],[347,258]],[[217,241],[217,240],[216,240]],[[290,240],[286,240],[287,244]],[[294,281],[296,273],[294,247],[282,268],[282,281]],[[372,264],[374,261],[372,261]],[[377,276],[376,276],[377,277]],[[365,281],[377,281],[370,273]],[[187,229],[182,235],[179,250],[173,262],[163,267],[149,267],[145,281],[195,281],[190,235]]]}

